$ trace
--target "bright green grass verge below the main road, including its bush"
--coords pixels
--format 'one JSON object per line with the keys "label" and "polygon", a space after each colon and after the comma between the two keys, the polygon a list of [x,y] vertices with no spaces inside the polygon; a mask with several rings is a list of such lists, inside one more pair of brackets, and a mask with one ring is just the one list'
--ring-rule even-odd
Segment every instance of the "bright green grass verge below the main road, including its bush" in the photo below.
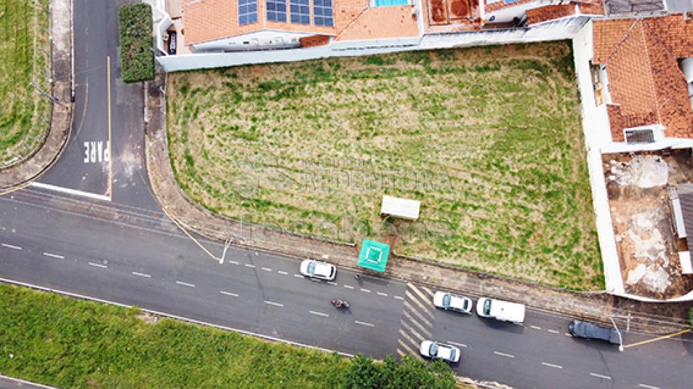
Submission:
{"label": "bright green grass verge below the main road, including its bush", "polygon": [[[373,363],[151,318],[139,309],[0,284],[0,372],[60,388],[333,389],[353,388],[362,365]],[[440,364],[428,372],[414,359],[386,359],[373,369],[380,377],[407,374],[396,382],[427,383],[399,388],[451,387],[452,372]]]}

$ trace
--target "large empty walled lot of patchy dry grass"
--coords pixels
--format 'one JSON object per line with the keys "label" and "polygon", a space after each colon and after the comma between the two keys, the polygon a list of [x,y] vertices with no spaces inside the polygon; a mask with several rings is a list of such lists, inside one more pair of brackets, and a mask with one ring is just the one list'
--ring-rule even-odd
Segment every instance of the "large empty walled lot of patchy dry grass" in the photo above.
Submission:
{"label": "large empty walled lot of patchy dry grass", "polygon": [[167,97],[175,177],[221,215],[602,288],[570,42],[173,73]]}

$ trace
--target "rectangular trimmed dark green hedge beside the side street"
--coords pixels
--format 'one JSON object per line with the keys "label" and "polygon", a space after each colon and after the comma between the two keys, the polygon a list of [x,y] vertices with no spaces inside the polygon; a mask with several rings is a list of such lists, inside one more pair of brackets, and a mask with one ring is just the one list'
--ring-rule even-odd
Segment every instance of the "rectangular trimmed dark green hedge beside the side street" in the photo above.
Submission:
{"label": "rectangular trimmed dark green hedge beside the side street", "polygon": [[118,10],[118,21],[123,81],[153,80],[152,7],[145,3],[123,4]]}

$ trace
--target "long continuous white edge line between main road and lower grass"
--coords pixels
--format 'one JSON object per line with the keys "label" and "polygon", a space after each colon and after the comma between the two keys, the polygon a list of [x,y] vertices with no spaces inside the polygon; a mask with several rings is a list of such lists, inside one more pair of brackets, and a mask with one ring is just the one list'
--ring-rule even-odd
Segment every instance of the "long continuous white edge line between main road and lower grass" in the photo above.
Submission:
{"label": "long continuous white edge line between main road and lower grass", "polygon": [[[72,292],[69,292],[69,291],[63,291],[63,290],[60,290],[60,289],[50,289],[50,288],[42,287],[42,286],[40,286],[40,285],[28,284],[28,283],[26,283],[26,282],[21,282],[21,281],[16,281],[16,280],[10,280],[10,279],[8,279],[8,278],[0,278],[0,281],[1,281],[1,282],[8,282],[8,283],[10,283],[10,284],[15,284],[15,285],[21,285],[22,287],[33,288],[33,289],[37,289],[37,290],[40,290],[40,291],[47,291],[47,292],[52,292],[52,293],[60,293],[60,294],[62,294],[63,296],[76,297],[76,298],[83,298],[83,299],[85,299],[85,300],[91,300],[91,301],[96,301],[96,302],[103,302],[104,304],[116,305],[116,307],[132,308],[132,305],[123,304],[122,302],[115,302],[115,301],[111,301],[111,300],[103,300],[103,298],[91,297],[91,296],[87,296],[87,295],[84,295],[84,294],[72,293]],[[333,352],[334,352],[334,353],[340,354],[341,356],[347,356],[347,357],[349,357],[349,358],[353,357],[353,354],[347,354],[346,352],[340,352],[340,351],[337,351],[337,350],[330,350],[330,349],[327,349],[327,348],[317,347],[317,346],[313,346],[313,345],[307,345],[307,344],[305,344],[305,343],[299,343],[299,342],[295,342],[295,341],[287,341],[286,339],[277,338],[277,337],[269,336],[269,335],[265,335],[265,334],[260,334],[260,333],[258,333],[258,332],[246,331],[245,329],[238,329],[238,328],[234,328],[234,327],[227,327],[227,326],[225,326],[225,325],[218,325],[218,324],[208,323],[208,322],[206,322],[206,321],[196,320],[196,319],[193,319],[193,318],[186,318],[185,316],[177,316],[177,315],[174,315],[174,314],[167,314],[166,312],[155,311],[155,310],[152,310],[152,309],[141,308],[141,311],[149,312],[150,314],[155,314],[155,315],[159,315],[159,316],[166,316],[166,317],[168,317],[168,318],[174,318],[174,319],[177,319],[177,320],[183,320],[183,321],[186,321],[186,322],[188,322],[188,323],[195,323],[195,324],[200,324],[200,325],[207,325],[207,326],[209,326],[209,327],[214,327],[214,328],[219,328],[219,329],[225,329],[225,330],[227,330],[227,331],[234,331],[234,332],[238,332],[239,334],[257,336],[258,338],[267,339],[267,340],[269,340],[269,341],[275,341],[275,342],[280,342],[280,343],[284,343],[284,344],[288,344],[288,345],[295,345],[295,346],[305,347],[305,348],[308,348],[308,349],[311,349],[311,350],[320,350],[320,351],[324,351],[324,352],[328,352],[328,353],[333,353]]]}

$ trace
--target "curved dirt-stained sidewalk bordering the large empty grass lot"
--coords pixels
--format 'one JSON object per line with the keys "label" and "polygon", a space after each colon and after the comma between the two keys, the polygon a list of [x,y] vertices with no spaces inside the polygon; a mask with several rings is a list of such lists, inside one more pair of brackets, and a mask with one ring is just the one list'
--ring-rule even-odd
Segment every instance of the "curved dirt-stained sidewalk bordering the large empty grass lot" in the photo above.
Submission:
{"label": "curved dirt-stained sidewalk bordering the large empty grass lot", "polygon": [[[166,103],[162,93],[165,89],[164,77],[157,75],[157,80],[150,82],[145,91],[147,168],[152,189],[164,210],[186,230],[209,239],[294,257],[323,258],[339,267],[356,269],[357,247],[242,224],[213,214],[191,201],[177,185],[170,166],[166,143]],[[687,305],[648,304],[602,292],[564,291],[396,255],[391,255],[385,277],[427,284],[433,289],[455,290],[470,296],[523,302],[534,309],[608,325],[611,325],[609,317],[612,316],[620,328],[629,327],[631,331],[669,333],[687,328],[684,319]]]}

